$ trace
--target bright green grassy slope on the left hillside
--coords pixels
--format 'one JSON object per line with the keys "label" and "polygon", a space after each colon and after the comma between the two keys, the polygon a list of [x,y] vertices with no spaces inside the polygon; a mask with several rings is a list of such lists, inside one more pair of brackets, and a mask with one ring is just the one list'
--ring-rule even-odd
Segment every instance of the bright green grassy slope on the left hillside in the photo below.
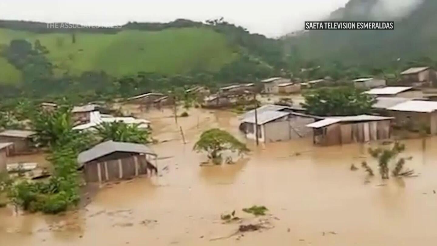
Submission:
{"label": "bright green grassy slope on the left hillside", "polygon": [[[58,72],[80,74],[104,70],[120,77],[140,71],[178,74],[193,69],[219,70],[236,53],[224,35],[207,28],[177,28],[158,32],[128,30],[118,34],[37,34],[0,28],[0,45],[12,39],[39,39]],[[0,64],[2,61],[0,60]],[[0,73],[10,68],[0,65]],[[10,72],[7,72],[10,73]]]}

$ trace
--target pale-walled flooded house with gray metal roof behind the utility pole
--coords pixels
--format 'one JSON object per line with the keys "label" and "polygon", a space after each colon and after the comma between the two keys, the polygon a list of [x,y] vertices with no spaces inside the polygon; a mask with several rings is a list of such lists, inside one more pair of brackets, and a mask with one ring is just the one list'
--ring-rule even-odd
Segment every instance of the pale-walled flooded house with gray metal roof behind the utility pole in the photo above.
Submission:
{"label": "pale-walled flooded house with gray metal roof behind the utility pole", "polygon": [[239,129],[246,138],[253,140],[256,140],[257,131],[258,141],[264,143],[310,136],[312,131],[305,125],[320,119],[320,117],[292,112],[287,109],[287,106],[264,105],[257,109],[257,119],[255,119],[254,110],[246,112],[241,119],[242,123]]}

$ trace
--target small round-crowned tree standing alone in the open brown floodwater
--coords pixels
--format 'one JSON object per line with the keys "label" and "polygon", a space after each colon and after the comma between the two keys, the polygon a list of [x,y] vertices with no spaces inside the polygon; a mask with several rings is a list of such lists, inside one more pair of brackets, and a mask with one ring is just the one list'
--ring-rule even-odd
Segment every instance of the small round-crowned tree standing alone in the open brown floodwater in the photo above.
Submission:
{"label": "small round-crowned tree standing alone in the open brown floodwater", "polygon": [[194,144],[193,150],[198,152],[206,151],[208,153],[208,158],[215,164],[220,164],[222,162],[222,151],[238,151],[239,154],[249,151],[246,144],[238,141],[227,131],[218,128],[213,128],[203,132],[200,135],[199,140]]}

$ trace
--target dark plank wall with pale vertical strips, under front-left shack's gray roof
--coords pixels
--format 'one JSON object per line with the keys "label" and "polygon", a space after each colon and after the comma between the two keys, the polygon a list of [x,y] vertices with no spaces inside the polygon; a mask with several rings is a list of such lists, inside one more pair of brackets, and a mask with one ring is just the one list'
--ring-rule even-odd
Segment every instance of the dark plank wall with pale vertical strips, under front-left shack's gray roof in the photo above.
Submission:
{"label": "dark plank wall with pale vertical strips, under front-left shack's gray roof", "polygon": [[[124,156],[123,158],[113,159],[114,156]],[[102,182],[113,181],[118,179],[129,179],[135,176],[135,158],[138,164],[138,175],[148,173],[147,155],[113,155],[105,158],[99,158],[84,165],[84,175],[87,183],[99,182],[99,165],[100,178]],[[120,164],[121,162],[121,172]],[[150,162],[150,161],[149,161]]]}

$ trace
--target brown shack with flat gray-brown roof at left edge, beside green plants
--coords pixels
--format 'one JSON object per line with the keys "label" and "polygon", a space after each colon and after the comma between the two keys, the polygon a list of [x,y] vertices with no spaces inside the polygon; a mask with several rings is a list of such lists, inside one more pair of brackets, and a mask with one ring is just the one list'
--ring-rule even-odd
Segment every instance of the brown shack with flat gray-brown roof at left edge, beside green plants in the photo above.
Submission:
{"label": "brown shack with flat gray-brown roof at left edge, beside green plants", "polygon": [[14,143],[10,155],[19,155],[31,152],[32,137],[36,134],[29,130],[5,130],[0,133],[0,143]]}

